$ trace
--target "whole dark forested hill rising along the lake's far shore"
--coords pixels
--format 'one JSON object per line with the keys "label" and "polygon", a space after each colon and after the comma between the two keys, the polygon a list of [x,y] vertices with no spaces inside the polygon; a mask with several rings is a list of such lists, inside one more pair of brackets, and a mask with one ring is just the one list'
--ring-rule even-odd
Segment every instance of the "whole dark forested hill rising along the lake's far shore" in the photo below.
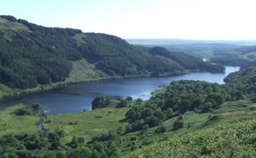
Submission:
{"label": "whole dark forested hill rising along the lake's far shore", "polygon": [[[223,72],[223,67],[194,57],[190,60],[191,56],[181,52],[165,50],[170,56],[164,57],[157,51],[148,52],[148,48],[134,46],[116,36],[72,28],[45,28],[27,20],[0,16],[0,83],[10,88],[64,82],[76,70],[74,63],[78,67],[76,61],[86,63],[86,67],[79,67],[89,68],[87,79],[93,73],[99,78],[110,78]],[[74,74],[77,73],[72,77],[79,80]]]}

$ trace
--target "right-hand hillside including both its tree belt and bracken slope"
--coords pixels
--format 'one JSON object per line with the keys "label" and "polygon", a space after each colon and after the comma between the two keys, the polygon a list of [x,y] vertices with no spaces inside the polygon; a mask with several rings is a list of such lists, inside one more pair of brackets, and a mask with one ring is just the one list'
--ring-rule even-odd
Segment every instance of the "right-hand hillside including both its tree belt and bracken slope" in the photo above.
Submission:
{"label": "right-hand hillside including both its tree belt and bracken slope", "polygon": [[[225,85],[180,81],[156,91],[149,102],[172,115],[159,117],[155,110],[156,120],[164,121],[156,128],[161,136],[124,157],[255,157],[254,75],[255,67],[249,67],[228,75]],[[145,106],[132,108],[131,123],[144,119]]]}

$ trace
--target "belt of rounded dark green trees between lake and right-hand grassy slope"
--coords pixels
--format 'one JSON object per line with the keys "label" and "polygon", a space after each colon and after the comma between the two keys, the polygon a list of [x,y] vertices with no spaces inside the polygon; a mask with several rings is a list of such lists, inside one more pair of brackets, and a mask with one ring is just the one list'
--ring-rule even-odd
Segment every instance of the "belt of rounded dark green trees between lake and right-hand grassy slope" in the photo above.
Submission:
{"label": "belt of rounded dark green trees between lake and right-hand grassy slope", "polygon": [[[155,127],[174,116],[188,111],[208,113],[217,109],[228,100],[244,99],[244,91],[229,84],[207,83],[200,81],[176,81],[156,93],[151,99],[126,113],[129,125],[126,132],[141,130],[143,126]],[[177,121],[178,125],[181,119]],[[174,127],[176,129],[177,127]]]}

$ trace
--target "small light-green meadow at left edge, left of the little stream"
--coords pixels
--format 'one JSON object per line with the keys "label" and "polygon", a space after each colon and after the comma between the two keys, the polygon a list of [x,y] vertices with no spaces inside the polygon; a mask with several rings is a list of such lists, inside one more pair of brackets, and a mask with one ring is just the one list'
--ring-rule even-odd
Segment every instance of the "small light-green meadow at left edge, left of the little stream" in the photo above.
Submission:
{"label": "small light-green meadow at left edge, left of the little stream", "polygon": [[40,121],[39,115],[14,115],[13,112],[22,105],[6,107],[0,111],[0,137],[5,134],[32,134],[37,132],[36,122]]}

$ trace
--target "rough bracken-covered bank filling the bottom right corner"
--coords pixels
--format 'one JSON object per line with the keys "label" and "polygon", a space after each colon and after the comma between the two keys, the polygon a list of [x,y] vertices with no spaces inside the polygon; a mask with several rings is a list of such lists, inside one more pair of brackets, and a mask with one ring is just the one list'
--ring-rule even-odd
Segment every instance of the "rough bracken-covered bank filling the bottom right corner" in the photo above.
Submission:
{"label": "rough bracken-covered bank filling the bottom right corner", "polygon": [[125,157],[255,157],[256,121],[197,130],[139,149]]}

